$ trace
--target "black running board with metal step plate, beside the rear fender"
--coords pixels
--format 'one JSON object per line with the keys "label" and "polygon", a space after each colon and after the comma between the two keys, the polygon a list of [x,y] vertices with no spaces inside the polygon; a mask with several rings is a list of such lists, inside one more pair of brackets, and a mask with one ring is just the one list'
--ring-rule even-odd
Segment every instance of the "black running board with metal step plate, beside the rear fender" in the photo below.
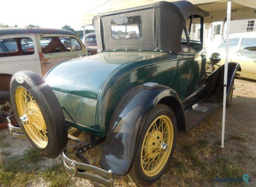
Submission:
{"label": "black running board with metal step plate, beside the rear fender", "polygon": [[215,111],[220,104],[202,102],[200,104],[194,104],[192,108],[185,111],[186,131],[190,131],[197,124],[203,121],[213,111]]}

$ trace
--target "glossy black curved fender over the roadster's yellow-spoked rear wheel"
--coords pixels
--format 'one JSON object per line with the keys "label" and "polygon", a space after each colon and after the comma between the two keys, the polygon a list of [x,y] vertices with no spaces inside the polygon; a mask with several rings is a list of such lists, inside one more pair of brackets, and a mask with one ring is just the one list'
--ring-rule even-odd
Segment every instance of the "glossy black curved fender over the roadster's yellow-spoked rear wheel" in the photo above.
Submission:
{"label": "glossy black curved fender over the roadster's yellow-spoked rear wheel", "polygon": [[122,97],[109,123],[101,155],[101,166],[104,169],[111,169],[115,175],[129,172],[147,116],[164,98],[175,99],[182,107],[178,94],[162,85],[139,85]]}

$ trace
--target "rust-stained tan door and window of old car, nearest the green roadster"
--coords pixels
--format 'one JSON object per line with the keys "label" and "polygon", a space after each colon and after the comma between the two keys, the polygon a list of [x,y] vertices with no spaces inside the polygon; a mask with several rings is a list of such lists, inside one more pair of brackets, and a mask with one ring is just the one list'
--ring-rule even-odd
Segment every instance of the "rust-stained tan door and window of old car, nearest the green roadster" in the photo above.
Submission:
{"label": "rust-stained tan door and window of old car, nearest the green roadster", "polygon": [[75,35],[37,34],[36,40],[43,76],[55,65],[86,53],[85,46]]}

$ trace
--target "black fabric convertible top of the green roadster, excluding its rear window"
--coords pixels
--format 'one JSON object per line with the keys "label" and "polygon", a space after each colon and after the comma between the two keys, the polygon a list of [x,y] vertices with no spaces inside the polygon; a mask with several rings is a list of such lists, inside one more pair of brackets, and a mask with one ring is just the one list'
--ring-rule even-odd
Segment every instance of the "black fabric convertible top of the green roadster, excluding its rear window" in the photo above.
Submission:
{"label": "black fabric convertible top of the green roadster, excluding its rear window", "polygon": [[[113,39],[111,20],[114,18],[141,17],[141,36],[133,39]],[[94,16],[92,23],[97,37],[98,51],[141,50],[178,53],[181,34],[191,16],[206,17],[208,12],[188,1],[166,2],[128,8]]]}

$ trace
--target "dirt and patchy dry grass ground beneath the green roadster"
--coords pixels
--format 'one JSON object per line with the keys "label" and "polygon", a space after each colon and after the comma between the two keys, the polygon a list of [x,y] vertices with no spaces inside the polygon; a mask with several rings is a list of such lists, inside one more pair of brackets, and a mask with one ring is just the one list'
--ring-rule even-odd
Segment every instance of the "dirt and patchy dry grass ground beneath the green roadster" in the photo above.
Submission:
{"label": "dirt and patchy dry grass ground beneath the green roadster", "polygon": [[[227,108],[225,147],[220,148],[222,108],[190,132],[178,132],[176,151],[165,174],[154,186],[256,186],[256,81],[235,79],[232,105]],[[81,136],[85,136],[82,134]],[[88,137],[87,137],[88,138]],[[102,145],[86,153],[99,166]],[[245,182],[214,182],[237,178]],[[62,155],[43,158],[28,140],[11,137],[0,129],[0,187],[102,186],[74,178],[63,167]],[[114,186],[136,186],[127,176],[115,177]]]}

